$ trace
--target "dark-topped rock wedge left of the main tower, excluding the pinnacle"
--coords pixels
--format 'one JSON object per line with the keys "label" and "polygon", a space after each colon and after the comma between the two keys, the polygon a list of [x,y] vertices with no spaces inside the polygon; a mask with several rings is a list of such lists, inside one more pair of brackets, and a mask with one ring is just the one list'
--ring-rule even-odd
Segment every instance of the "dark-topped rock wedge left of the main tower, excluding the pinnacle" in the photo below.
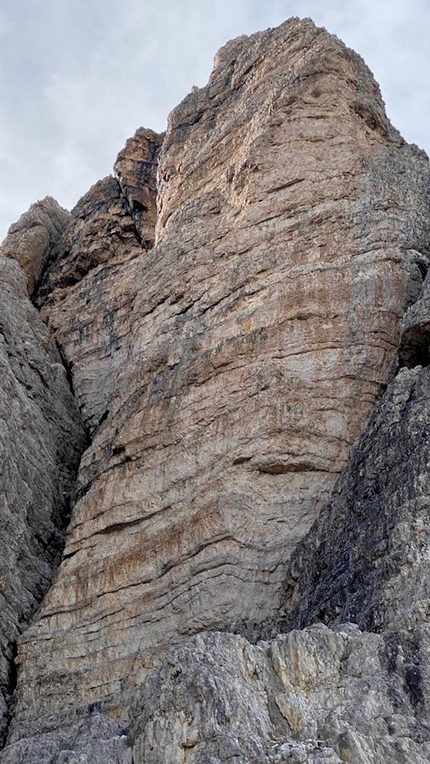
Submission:
{"label": "dark-topped rock wedge left of the main tower, excluding the pinnacle", "polygon": [[133,259],[142,253],[118,181],[105,178],[88,192],[73,211],[64,240],[61,256],[41,286],[39,304],[55,332],[92,435],[109,408],[117,371],[126,360]]}

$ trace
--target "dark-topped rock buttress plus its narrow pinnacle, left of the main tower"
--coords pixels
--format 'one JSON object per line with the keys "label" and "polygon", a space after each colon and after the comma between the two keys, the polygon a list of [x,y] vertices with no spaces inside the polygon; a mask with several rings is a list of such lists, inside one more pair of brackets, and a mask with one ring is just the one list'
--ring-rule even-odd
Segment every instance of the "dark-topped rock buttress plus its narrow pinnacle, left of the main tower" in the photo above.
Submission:
{"label": "dark-topped rock buttress plus its narrow pinnacle, left of the main tower", "polygon": [[152,131],[137,131],[116,163],[121,185],[105,178],[78,202],[39,290],[42,317],[55,332],[91,435],[108,415],[127,362],[125,340],[142,288],[139,260],[154,239],[159,143]]}

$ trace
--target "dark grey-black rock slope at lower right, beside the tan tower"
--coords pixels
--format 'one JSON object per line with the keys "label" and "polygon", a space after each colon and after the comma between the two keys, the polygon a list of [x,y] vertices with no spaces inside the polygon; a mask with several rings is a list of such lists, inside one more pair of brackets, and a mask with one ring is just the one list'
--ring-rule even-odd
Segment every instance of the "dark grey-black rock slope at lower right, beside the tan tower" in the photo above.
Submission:
{"label": "dark grey-black rock slope at lower right, beside the tan tower", "polygon": [[430,614],[430,368],[402,369],[293,555],[289,626],[410,630]]}

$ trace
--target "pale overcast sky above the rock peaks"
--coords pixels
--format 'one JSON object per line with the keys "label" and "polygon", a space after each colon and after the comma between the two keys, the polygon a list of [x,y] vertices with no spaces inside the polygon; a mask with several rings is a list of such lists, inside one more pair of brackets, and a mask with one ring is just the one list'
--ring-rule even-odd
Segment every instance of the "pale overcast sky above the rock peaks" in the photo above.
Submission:
{"label": "pale overcast sky above the rock peaks", "polygon": [[69,209],[137,127],[206,84],[227,40],[310,16],[366,60],[430,153],[430,0],[0,0],[0,240],[36,199]]}

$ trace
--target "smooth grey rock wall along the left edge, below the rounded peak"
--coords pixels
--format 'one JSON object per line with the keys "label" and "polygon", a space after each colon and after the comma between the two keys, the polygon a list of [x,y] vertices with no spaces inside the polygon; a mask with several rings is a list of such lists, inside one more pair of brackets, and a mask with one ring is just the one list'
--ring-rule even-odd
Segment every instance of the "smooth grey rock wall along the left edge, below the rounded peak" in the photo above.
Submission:
{"label": "smooth grey rock wall along the left edge, below the rounded peak", "polygon": [[[19,260],[23,231],[25,246],[13,234]],[[85,445],[65,369],[11,259],[10,237],[7,257],[0,248],[0,744],[16,640],[60,560]]]}

